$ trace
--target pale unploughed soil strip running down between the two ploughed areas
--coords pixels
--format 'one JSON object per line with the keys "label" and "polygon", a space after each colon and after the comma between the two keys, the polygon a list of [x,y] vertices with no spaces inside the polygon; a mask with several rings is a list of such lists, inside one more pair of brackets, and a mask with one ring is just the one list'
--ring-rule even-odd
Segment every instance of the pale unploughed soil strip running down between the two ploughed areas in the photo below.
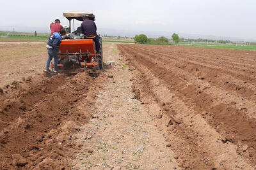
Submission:
{"label": "pale unploughed soil strip running down between the two ploughed areas", "polygon": [[95,97],[93,118],[76,134],[82,146],[72,169],[179,169],[152,110],[134,98],[132,72],[115,49],[104,50],[115,64]]}

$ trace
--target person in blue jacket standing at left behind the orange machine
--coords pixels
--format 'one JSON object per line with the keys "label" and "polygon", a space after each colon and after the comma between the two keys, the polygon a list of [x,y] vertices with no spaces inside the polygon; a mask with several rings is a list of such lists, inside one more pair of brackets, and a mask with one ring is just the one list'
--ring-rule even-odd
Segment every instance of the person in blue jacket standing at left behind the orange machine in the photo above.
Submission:
{"label": "person in blue jacket standing at left behind the orange machine", "polygon": [[61,36],[65,35],[65,29],[61,29],[60,32],[54,32],[48,39],[48,43],[46,45],[47,52],[48,52],[48,60],[46,62],[46,69],[44,70],[47,73],[51,73],[49,67],[52,57],[54,58],[54,73],[58,72],[58,56],[57,53],[59,52],[59,47],[61,43]]}

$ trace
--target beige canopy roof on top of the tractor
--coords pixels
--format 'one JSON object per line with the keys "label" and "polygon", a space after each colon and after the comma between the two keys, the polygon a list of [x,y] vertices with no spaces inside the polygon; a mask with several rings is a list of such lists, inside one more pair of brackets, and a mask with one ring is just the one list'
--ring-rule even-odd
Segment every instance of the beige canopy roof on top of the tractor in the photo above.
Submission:
{"label": "beige canopy roof on top of the tractor", "polygon": [[83,21],[84,16],[87,16],[90,20],[95,20],[95,15],[93,15],[93,13],[85,11],[67,11],[63,13],[63,16],[68,20],[76,19]]}

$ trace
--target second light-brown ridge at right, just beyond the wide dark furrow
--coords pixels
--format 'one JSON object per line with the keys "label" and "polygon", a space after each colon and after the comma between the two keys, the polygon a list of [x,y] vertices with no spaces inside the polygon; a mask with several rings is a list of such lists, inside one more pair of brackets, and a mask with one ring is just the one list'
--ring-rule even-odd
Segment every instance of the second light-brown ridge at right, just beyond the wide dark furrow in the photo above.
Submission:
{"label": "second light-brown ridge at right, just beyond the wide dark furrow", "polygon": [[[141,54],[141,53],[138,53],[138,54]],[[168,59],[164,59],[162,57],[157,57],[157,56],[152,58],[152,57],[149,57],[149,55],[146,53],[145,55],[143,55],[143,57],[146,57],[147,60],[150,60],[151,62],[154,62],[154,60],[157,60],[157,65],[163,66],[165,69],[170,69],[170,66],[172,66],[171,68],[173,73],[177,74],[177,76],[179,76],[183,80],[188,81],[188,83],[190,85],[193,85],[196,89],[200,91],[204,91],[206,94],[212,96],[213,98],[220,99],[221,103],[233,105],[239,110],[241,110],[241,108],[246,108],[246,112],[247,112],[246,114],[256,118],[256,105],[255,105],[256,97],[254,94],[255,90],[246,89],[246,87],[242,86],[244,85],[244,83],[242,85],[239,85],[240,87],[239,90],[238,88],[223,89],[223,82],[225,82],[225,80],[227,81],[227,79],[220,80],[218,82],[207,81],[209,80],[209,77],[211,78],[211,76],[207,74],[203,74],[205,73],[205,71],[202,71],[203,73],[201,72],[198,73],[198,71],[192,71],[193,67],[186,67],[181,65],[174,66],[177,64],[177,62],[173,63],[172,61],[170,62]],[[203,78],[204,80],[202,80]],[[232,80],[232,81],[238,81],[238,80]],[[242,88],[243,90],[241,90]],[[229,92],[228,95],[227,95],[227,91],[225,90]],[[247,90],[247,92],[244,92],[245,90]],[[241,96],[244,98],[241,99]],[[249,100],[252,100],[252,102]]]}

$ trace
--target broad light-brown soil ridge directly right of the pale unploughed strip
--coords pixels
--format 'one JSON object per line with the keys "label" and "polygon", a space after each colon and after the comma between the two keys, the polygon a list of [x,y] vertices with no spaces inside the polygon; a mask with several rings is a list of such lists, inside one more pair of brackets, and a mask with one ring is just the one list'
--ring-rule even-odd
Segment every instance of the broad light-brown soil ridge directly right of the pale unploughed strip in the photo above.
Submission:
{"label": "broad light-brown soil ridge directly right of the pale unploughed strip", "polygon": [[165,118],[164,123],[161,122],[159,126],[161,124],[168,126],[166,139],[175,148],[175,153],[180,157],[179,161],[182,167],[186,169],[208,169],[210,167],[234,169],[236,165],[252,169],[236,153],[235,146],[221,141],[220,134],[207,124],[204,116],[189,109],[186,104],[180,101],[179,97],[168,92],[169,90],[163,86],[163,82],[155,78],[154,74],[149,71],[145,73],[145,69],[141,65],[137,68],[146,78],[150,77],[145,80],[144,86],[141,88],[145,97],[148,97],[148,94],[154,97],[154,101],[157,101],[161,110],[171,118]]}

